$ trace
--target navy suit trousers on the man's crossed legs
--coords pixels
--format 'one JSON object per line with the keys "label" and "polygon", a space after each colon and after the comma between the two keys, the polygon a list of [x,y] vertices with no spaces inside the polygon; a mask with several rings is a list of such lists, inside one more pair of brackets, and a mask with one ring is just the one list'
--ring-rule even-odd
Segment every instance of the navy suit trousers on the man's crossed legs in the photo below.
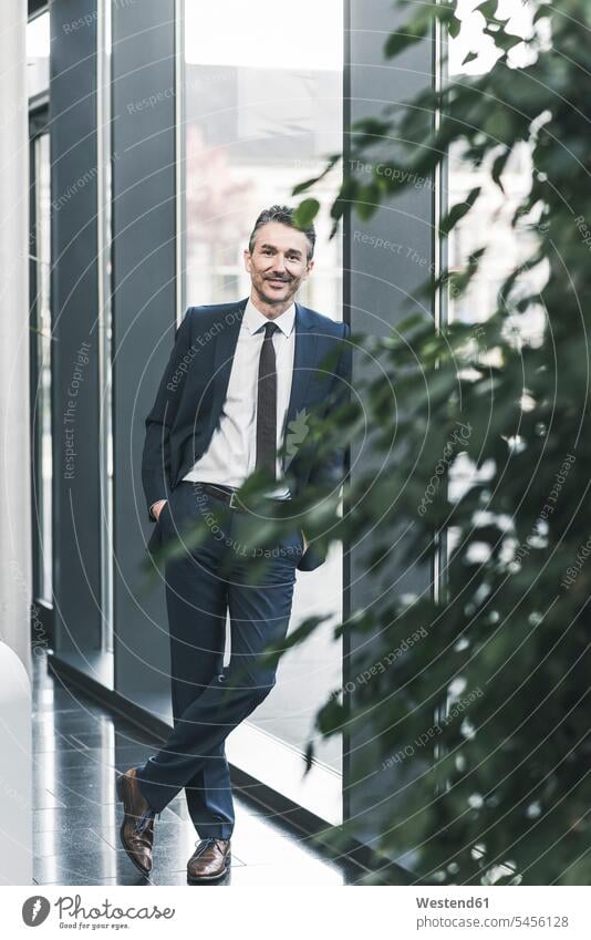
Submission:
{"label": "navy suit trousers on the man's crossed legs", "polygon": [[[225,509],[226,524],[219,525]],[[200,838],[231,835],[225,741],[274,685],[276,667],[260,654],[287,634],[303,552],[301,530],[293,527],[279,541],[256,549],[265,557],[263,570],[257,571],[246,543],[249,515],[228,509],[199,483],[182,481],[156,523],[163,544],[178,549],[164,565],[174,727],[138,767],[137,779],[156,813],[185,788]],[[191,524],[206,533],[199,544],[190,543]],[[231,655],[225,667],[228,611]]]}

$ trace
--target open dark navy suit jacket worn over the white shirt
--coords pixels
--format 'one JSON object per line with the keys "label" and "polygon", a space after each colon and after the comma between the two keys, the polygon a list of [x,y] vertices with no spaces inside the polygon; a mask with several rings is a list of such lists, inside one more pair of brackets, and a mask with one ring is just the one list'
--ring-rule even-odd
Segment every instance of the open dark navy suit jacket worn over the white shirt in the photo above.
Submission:
{"label": "open dark navy suit jacket worn over the white shirt", "polygon": [[[247,300],[189,307],[176,330],[156,401],[145,422],[142,483],[152,523],[152,504],[168,499],[170,490],[207,450],[219,422]],[[343,450],[334,451],[330,458],[319,463],[314,459],[314,447],[305,443],[305,428],[300,433],[299,421],[308,412],[323,416],[329,409],[346,401],[351,383],[351,344],[344,341],[350,335],[346,323],[296,303],[294,329],[291,396],[284,428],[294,428],[291,438],[298,444],[286,447],[286,435],[283,446],[286,482],[292,496],[307,485],[326,487],[330,492],[341,484]],[[159,545],[156,523],[147,549],[153,551]],[[310,571],[323,561],[324,554],[311,545],[298,568]]]}

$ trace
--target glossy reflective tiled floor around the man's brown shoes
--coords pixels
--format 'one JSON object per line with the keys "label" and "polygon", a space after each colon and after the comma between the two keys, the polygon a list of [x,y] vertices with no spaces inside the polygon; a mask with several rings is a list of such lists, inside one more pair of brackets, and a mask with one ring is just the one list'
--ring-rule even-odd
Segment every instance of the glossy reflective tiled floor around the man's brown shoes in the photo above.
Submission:
{"label": "glossy reflective tiled floor around the man's brown shoes", "polygon": [[[115,769],[155,750],[148,735],[69,691],[34,660],[33,834],[38,885],[186,885],[197,834],[180,794],[155,823],[154,868],[144,878],[118,840]],[[344,885],[349,871],[291,834],[271,814],[236,799],[232,869],[220,885]]]}

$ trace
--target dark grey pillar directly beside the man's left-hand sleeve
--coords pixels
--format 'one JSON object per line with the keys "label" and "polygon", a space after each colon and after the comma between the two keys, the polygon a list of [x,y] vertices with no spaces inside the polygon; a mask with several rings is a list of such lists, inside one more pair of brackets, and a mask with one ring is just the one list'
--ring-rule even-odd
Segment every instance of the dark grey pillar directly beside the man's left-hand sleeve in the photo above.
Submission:
{"label": "dark grey pillar directly beside the man's left-hand sleeve", "polygon": [[168,632],[164,585],[142,569],[141,456],[175,329],[173,0],[114,4],[112,61],[115,689],[157,711]]}

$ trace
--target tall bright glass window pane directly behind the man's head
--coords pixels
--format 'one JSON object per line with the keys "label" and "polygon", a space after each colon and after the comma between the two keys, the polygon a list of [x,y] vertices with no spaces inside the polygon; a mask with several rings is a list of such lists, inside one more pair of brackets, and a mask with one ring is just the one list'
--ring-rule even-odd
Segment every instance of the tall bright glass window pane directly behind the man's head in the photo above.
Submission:
{"label": "tall bright glass window pane directly behind the man's head", "polygon": [[[286,25],[277,4],[243,0],[185,3],[184,215],[187,306],[239,300],[250,292],[242,250],[260,210],[297,205],[292,187],[342,149],[342,0],[300,0]],[[340,177],[314,196],[323,208]],[[342,316],[339,238],[329,240],[323,211],[315,268],[298,300],[335,320]],[[342,616],[342,551],[299,575],[292,629],[307,616]],[[334,626],[334,620],[332,622]],[[329,627],[289,653],[278,683],[251,722],[302,750],[318,707],[341,685],[341,649]],[[341,768],[334,740],[319,756]]]}

